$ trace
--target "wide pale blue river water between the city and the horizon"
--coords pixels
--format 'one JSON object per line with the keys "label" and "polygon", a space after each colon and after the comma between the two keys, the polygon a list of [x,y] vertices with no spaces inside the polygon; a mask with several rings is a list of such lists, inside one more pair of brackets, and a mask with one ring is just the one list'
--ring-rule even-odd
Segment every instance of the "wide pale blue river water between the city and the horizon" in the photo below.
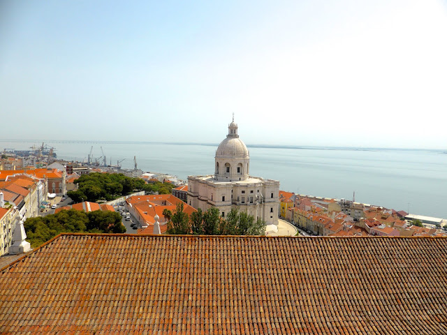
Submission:
{"label": "wide pale blue river water between the city and the horizon", "polygon": [[[0,149],[26,150],[43,141],[0,141]],[[186,180],[212,174],[218,144],[45,141],[58,158],[83,161],[92,156],[143,171]],[[447,218],[447,154],[443,150],[262,147],[247,145],[250,174],[277,179],[281,190],[328,198],[353,199],[411,214]],[[102,162],[102,159],[98,161]]]}

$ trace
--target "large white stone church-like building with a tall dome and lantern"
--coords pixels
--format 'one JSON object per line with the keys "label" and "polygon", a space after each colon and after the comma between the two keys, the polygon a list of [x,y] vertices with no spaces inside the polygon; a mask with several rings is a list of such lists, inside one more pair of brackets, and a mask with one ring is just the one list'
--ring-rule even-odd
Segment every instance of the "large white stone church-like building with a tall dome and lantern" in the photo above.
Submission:
{"label": "large white stone church-like building with a tall dome and lantern", "polygon": [[266,225],[277,225],[279,181],[252,177],[249,168],[249,150],[233,117],[226,139],[216,150],[214,175],[188,177],[188,204],[203,211],[215,206],[223,217],[237,207]]}

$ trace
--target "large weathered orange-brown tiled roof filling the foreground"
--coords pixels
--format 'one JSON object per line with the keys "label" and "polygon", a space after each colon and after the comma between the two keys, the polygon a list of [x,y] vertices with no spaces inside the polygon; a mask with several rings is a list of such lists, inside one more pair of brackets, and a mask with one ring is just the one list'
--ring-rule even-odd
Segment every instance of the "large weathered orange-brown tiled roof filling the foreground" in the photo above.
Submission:
{"label": "large weathered orange-brown tiled roof filling the foreground", "polygon": [[446,334],[446,246],[64,234],[0,272],[0,333]]}

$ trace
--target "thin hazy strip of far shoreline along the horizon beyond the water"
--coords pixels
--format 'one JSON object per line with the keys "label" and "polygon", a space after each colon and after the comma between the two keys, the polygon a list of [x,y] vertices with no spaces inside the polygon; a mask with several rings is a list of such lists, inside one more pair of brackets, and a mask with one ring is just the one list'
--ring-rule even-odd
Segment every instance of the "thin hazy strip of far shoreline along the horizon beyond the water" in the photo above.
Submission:
{"label": "thin hazy strip of far shoreline along the horizon beyond the water", "polygon": [[[0,140],[0,142],[49,142],[49,143],[73,143],[73,144],[165,144],[165,145],[201,145],[204,147],[217,147],[219,143],[196,142],[148,142],[148,141],[82,141],[82,140]],[[351,150],[351,151],[432,151],[447,154],[447,149],[415,149],[415,148],[383,148],[383,147],[331,147],[311,145],[287,145],[287,144],[247,144],[249,148],[265,149],[304,149],[304,150]],[[0,148],[1,149],[1,148]]]}

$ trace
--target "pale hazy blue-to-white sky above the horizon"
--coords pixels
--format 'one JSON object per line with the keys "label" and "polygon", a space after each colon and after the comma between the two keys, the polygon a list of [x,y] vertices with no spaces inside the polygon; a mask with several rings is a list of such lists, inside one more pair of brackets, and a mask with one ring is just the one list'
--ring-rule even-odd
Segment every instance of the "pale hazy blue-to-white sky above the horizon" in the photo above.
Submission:
{"label": "pale hazy blue-to-white sky above the horizon", "polygon": [[447,2],[0,1],[0,139],[447,149]]}

